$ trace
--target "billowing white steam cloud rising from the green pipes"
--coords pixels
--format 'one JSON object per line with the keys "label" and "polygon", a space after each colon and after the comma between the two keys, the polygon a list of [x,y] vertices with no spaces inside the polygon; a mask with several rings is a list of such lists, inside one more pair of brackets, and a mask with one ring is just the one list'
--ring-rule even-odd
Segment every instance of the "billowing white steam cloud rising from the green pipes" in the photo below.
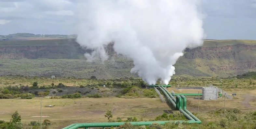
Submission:
{"label": "billowing white steam cloud rising from the green pipes", "polygon": [[94,49],[88,59],[107,59],[103,45],[133,59],[143,81],[168,84],[186,47],[203,44],[198,0],[88,0],[80,3],[77,42]]}

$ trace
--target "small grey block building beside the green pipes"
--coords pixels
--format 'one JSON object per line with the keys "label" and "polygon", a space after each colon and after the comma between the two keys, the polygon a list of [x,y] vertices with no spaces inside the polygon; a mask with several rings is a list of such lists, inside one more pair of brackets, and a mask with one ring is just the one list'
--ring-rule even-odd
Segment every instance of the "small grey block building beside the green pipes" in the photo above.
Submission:
{"label": "small grey block building beside the green pipes", "polygon": [[218,89],[216,87],[203,87],[202,88],[202,99],[203,100],[217,100]]}

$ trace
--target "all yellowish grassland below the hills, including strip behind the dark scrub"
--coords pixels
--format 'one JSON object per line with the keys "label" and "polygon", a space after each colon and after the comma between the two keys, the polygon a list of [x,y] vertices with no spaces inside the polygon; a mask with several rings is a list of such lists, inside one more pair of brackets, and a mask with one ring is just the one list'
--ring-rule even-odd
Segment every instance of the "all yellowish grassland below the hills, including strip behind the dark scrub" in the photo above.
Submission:
{"label": "all yellowish grassland below the hills, including strip behind the dark scrub", "polygon": [[[39,86],[48,85],[52,82],[55,84],[63,83],[68,86],[86,85],[86,84],[100,84],[102,82],[110,83],[111,81],[118,80],[91,80],[91,79],[75,79],[75,78],[57,78],[49,79],[47,77],[22,77],[22,76],[3,76],[0,77],[2,82],[1,87],[8,85],[32,85],[34,81],[39,82]],[[121,82],[125,80],[119,80]],[[129,80],[135,83],[136,80]],[[138,81],[138,80],[137,80]],[[168,88],[168,91],[175,91],[175,93],[198,93],[201,90],[186,90],[177,89],[181,86],[190,85],[203,86],[204,84],[214,84],[222,87],[223,90],[232,94],[235,86],[234,99],[226,99],[226,110],[232,110],[238,107],[243,116],[246,112],[256,109],[256,89],[255,81],[253,79],[219,79],[213,77],[191,77],[187,75],[174,76],[170,81],[173,86]],[[102,89],[103,90],[103,89]],[[97,90],[96,90],[97,91]],[[101,91],[101,90],[99,90]],[[131,90],[132,91],[132,90]],[[140,92],[140,91],[139,91]],[[31,121],[40,120],[40,98],[33,99],[0,99],[0,115],[1,119],[8,121],[11,114],[18,111],[21,115],[24,127],[28,127]],[[54,107],[45,107],[47,105],[54,105]],[[199,113],[198,112],[198,99],[194,96],[188,98],[187,108],[195,114],[203,125],[208,122],[219,122],[223,118],[223,113],[219,110],[224,109],[224,98],[218,100],[199,100]],[[79,99],[50,99],[44,97],[42,99],[42,116],[43,120],[49,119],[52,122],[50,129],[59,129],[73,123],[89,123],[89,122],[107,122],[104,114],[107,109],[112,110],[113,119],[121,117],[125,120],[127,117],[137,117],[139,121],[153,121],[158,115],[171,110],[170,104],[163,103],[159,98],[79,98]],[[216,115],[216,112],[221,112]],[[200,125],[201,126],[201,125]],[[239,126],[240,127],[240,126]]]}

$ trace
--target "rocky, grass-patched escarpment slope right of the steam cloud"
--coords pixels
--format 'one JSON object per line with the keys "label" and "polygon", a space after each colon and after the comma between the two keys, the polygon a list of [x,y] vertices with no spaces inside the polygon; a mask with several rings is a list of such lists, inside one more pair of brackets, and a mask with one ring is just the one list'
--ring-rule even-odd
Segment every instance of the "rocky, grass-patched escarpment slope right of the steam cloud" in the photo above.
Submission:
{"label": "rocky, grass-patched escarpment slope right of the steam cloud", "polygon": [[256,45],[187,48],[184,52],[178,63],[187,64],[208,75],[233,76],[256,70]]}

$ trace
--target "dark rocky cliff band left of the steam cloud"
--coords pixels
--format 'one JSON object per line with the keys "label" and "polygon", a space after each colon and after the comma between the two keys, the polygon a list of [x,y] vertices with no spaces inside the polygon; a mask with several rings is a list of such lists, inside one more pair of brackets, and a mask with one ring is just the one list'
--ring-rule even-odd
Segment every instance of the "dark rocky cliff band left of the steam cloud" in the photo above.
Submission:
{"label": "dark rocky cliff band left of the steam cloud", "polygon": [[[34,42],[37,42],[37,40]],[[90,49],[81,47],[74,40],[70,41],[70,44],[68,45],[35,45],[36,46],[0,47],[0,59],[84,59],[84,54],[91,52]],[[113,45],[114,44],[109,44],[105,46],[105,50],[109,56],[116,55]]]}

